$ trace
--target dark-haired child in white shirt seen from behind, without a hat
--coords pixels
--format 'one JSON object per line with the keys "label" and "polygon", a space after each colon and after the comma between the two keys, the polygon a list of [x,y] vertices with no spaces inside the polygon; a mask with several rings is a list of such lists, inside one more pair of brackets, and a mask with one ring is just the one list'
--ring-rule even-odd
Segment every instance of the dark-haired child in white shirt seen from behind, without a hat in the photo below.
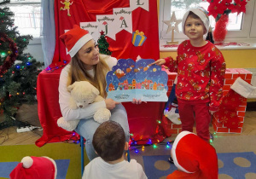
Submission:
{"label": "dark-haired child in white shirt seen from behind, without a hat", "polygon": [[96,153],[100,156],[90,161],[84,168],[82,179],[120,178],[147,179],[142,165],[135,159],[125,161],[124,152],[128,150],[125,132],[114,121],[102,123],[92,140]]}

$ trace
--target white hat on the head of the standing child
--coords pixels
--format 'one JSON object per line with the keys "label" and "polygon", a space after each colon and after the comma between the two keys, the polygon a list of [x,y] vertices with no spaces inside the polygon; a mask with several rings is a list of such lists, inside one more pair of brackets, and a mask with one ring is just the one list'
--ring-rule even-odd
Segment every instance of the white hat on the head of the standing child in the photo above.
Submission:
{"label": "white hat on the head of the standing child", "polygon": [[[209,17],[208,17],[208,13],[206,9],[203,8],[196,8],[196,9],[189,9],[183,16],[183,22],[182,22],[182,27],[183,27],[183,34],[185,34],[185,22],[188,18],[189,12],[192,12],[194,14],[196,14],[204,23],[204,26],[207,29],[207,32],[209,31],[209,26],[210,26],[210,22],[209,22]],[[207,33],[206,32],[206,33]],[[205,34],[206,34],[205,33]]]}

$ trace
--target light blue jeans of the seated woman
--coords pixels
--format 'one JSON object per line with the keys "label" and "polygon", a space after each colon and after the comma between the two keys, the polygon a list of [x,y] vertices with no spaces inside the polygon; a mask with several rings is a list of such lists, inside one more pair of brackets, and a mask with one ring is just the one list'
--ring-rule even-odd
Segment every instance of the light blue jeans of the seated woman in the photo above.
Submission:
{"label": "light blue jeans of the seated woman", "polygon": [[[125,107],[122,104],[117,105],[113,110],[111,110],[111,118],[110,120],[119,123],[123,129],[125,130],[125,138],[126,141],[129,142],[130,139],[130,130],[128,124],[127,113]],[[85,150],[87,153],[88,159],[92,160],[97,156],[94,147],[92,146],[92,138],[99,127],[99,123],[97,123],[93,118],[81,119],[75,131],[83,136],[85,141]]]}

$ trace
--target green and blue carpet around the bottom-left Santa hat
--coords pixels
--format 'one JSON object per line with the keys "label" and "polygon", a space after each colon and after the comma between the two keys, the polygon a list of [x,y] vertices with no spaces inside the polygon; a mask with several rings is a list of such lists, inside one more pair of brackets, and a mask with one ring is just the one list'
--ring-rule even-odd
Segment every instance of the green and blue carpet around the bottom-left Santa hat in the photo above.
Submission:
{"label": "green and blue carpet around the bottom-left Santa hat", "polygon": [[[20,160],[26,156],[47,156],[55,160],[57,165],[57,179],[81,178],[81,149],[75,143],[49,143],[43,147],[36,145],[15,145],[0,147],[0,178],[9,178],[9,173]],[[89,159],[84,151],[84,164]]]}

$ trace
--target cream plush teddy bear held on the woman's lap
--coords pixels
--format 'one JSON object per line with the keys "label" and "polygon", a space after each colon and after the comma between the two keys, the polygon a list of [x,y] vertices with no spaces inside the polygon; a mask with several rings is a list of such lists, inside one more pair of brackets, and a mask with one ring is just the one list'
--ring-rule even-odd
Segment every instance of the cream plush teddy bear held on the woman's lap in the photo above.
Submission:
{"label": "cream plush teddy bear held on the woman's lap", "polygon": [[[100,95],[99,90],[87,81],[74,82],[67,87],[71,97],[69,107],[71,109],[84,108],[93,102],[102,101],[104,98]],[[93,118],[99,124],[102,124],[111,117],[107,108],[101,108],[96,111]],[[79,120],[65,120],[63,117],[57,120],[57,124],[64,130],[73,131],[79,124]]]}

